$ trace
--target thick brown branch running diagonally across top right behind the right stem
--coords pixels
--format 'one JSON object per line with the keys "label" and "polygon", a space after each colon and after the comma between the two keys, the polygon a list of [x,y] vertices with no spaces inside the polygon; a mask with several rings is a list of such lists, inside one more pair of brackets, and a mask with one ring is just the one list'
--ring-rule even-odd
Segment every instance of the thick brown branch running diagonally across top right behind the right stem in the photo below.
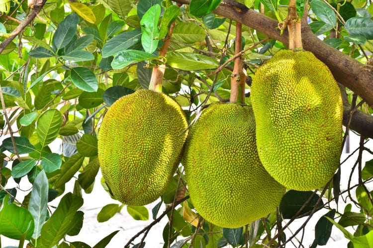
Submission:
{"label": "thick brown branch running diagonally across top right behind the right stem", "polygon": [[[178,3],[189,4],[190,0],[174,0]],[[261,33],[288,44],[288,32],[276,29],[278,22],[261,13],[247,8],[236,1],[224,1],[214,10],[214,13],[240,22],[254,28]],[[364,98],[373,108],[373,66],[364,65],[355,59],[343,54],[337,49],[317,38],[309,28],[306,21],[302,20],[303,49],[312,52],[320,61],[324,62],[334,75],[334,78]]]}

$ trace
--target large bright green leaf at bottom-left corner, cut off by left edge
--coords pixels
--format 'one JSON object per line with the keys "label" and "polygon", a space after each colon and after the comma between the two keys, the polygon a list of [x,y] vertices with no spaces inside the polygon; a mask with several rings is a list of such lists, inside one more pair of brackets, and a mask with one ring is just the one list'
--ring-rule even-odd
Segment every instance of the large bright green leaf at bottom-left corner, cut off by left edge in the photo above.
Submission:
{"label": "large bright green leaf at bottom-left corner, cut off by left edge", "polygon": [[8,203],[9,195],[5,195],[0,206],[0,234],[10,239],[29,240],[34,232],[34,220],[24,207]]}

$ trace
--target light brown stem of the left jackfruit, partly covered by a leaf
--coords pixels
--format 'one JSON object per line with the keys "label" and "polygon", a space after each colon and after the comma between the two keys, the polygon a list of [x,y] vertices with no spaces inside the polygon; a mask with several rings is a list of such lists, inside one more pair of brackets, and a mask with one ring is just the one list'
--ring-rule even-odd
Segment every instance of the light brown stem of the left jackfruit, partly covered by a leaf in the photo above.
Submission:
{"label": "light brown stem of the left jackfruit, partly covered by a leaf", "polygon": [[[175,22],[173,22],[170,26],[169,32],[163,42],[163,46],[159,50],[159,57],[165,57],[167,54],[167,50],[169,48],[171,38],[172,38],[172,32],[175,27]],[[162,92],[162,80],[163,76],[165,75],[165,70],[166,70],[166,64],[160,64],[160,65],[155,65],[153,67],[152,71],[152,77],[150,78],[150,84],[149,84],[149,89]]]}

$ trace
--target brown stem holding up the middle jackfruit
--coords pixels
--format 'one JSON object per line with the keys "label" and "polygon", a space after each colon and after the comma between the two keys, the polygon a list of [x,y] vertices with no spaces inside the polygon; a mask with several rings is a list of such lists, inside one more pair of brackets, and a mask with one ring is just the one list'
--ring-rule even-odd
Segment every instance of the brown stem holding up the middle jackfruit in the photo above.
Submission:
{"label": "brown stem holding up the middle jackfruit", "polygon": [[[239,54],[241,52],[242,46],[242,23],[236,23],[236,46],[235,46],[235,54]],[[234,67],[231,74],[231,96],[229,101],[231,103],[245,103],[245,81],[246,81],[246,73],[242,67],[242,60],[241,56],[238,56],[234,60]]]}

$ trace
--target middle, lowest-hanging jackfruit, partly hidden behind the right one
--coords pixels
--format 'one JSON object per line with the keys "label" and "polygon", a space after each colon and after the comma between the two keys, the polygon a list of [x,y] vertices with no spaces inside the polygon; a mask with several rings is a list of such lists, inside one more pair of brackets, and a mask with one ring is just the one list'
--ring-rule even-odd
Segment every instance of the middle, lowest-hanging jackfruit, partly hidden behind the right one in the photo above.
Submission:
{"label": "middle, lowest-hanging jackfruit, partly hidden behind the right one", "polygon": [[208,222],[238,228],[276,209],[284,187],[262,166],[251,107],[215,103],[189,129],[183,165],[190,199]]}

